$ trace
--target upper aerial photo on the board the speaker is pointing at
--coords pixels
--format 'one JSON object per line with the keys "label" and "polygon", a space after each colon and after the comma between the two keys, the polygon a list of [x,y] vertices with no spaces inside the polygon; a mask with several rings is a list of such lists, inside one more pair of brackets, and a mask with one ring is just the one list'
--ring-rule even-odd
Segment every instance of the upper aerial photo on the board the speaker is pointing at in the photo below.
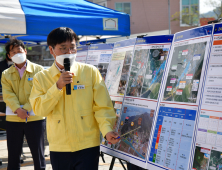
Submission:
{"label": "upper aerial photo on the board the speaker is pointing at", "polygon": [[168,48],[135,50],[127,96],[157,99]]}

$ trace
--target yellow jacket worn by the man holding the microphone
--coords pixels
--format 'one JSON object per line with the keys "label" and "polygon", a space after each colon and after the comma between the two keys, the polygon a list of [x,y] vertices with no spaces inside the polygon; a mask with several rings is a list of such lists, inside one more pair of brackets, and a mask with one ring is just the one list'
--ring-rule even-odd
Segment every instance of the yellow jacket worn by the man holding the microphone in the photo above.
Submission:
{"label": "yellow jacket worn by the man holding the microphone", "polygon": [[[97,68],[75,63],[71,95],[66,87],[58,90],[61,73],[53,64],[36,74],[30,103],[36,115],[47,116],[50,151],[75,152],[99,146],[103,136],[112,131],[116,116],[106,85]],[[75,85],[84,89],[73,90]],[[75,86],[76,87],[76,86]]]}

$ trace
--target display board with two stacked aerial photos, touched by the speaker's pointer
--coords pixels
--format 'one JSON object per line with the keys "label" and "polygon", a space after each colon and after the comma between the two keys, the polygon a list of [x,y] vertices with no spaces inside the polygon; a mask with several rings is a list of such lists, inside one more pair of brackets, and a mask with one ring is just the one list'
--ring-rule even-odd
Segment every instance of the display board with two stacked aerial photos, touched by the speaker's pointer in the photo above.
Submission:
{"label": "display board with two stacked aerial photos, touched by the speaker's pointer", "polygon": [[[172,39],[172,35],[137,38],[130,62],[125,59],[129,63],[124,79],[127,90],[116,129],[120,135],[128,134],[116,145],[107,142],[101,145],[102,151],[143,168],[147,164],[157,98]],[[121,56],[122,51],[115,52]]]}

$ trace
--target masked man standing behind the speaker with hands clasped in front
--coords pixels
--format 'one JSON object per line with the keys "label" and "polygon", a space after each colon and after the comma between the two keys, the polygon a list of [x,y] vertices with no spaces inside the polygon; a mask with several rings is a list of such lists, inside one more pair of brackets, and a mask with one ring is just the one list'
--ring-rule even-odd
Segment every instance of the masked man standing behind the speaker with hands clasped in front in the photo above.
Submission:
{"label": "masked man standing behind the speaker with hands clasped in front", "polygon": [[34,75],[43,67],[26,59],[22,41],[11,39],[5,45],[8,57],[14,62],[2,73],[3,100],[6,103],[6,132],[8,170],[20,169],[23,138],[26,136],[34,160],[35,170],[45,169],[45,120],[32,111],[29,96]]}

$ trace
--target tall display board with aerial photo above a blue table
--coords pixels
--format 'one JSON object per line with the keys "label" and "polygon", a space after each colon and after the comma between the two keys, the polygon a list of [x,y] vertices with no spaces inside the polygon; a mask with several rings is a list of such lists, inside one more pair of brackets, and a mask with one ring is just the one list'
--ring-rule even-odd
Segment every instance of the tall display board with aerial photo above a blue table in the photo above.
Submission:
{"label": "tall display board with aerial photo above a blue table", "polygon": [[147,169],[192,168],[212,31],[209,25],[174,35]]}

